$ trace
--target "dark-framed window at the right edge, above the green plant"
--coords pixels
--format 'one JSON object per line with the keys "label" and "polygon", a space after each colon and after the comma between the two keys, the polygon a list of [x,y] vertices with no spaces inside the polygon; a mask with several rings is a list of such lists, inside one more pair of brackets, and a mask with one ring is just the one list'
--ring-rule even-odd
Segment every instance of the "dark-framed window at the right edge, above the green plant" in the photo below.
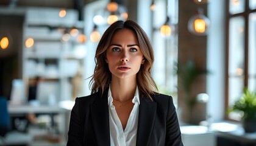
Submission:
{"label": "dark-framed window at the right edge, above the green plant", "polygon": [[[226,109],[244,87],[256,91],[256,0],[227,1]],[[231,113],[228,119],[240,120]]]}

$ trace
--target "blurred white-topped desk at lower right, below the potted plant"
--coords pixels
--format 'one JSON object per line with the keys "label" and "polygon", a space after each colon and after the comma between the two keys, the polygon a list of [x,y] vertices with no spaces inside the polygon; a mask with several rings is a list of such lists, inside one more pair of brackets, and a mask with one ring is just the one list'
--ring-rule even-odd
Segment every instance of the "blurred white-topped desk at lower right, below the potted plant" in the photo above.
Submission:
{"label": "blurred white-topped desk at lower right, below the potted plant", "polygon": [[244,133],[239,123],[216,122],[209,128],[198,125],[181,126],[184,146],[205,145],[254,145],[256,146],[256,133]]}

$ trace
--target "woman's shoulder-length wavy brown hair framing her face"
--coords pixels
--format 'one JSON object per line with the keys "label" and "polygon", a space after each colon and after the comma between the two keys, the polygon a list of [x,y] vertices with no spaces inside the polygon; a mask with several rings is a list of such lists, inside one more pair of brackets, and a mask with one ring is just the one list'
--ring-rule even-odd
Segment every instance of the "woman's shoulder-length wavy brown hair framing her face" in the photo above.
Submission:
{"label": "woman's shoulder-length wavy brown hair framing her face", "polygon": [[[102,35],[101,40],[96,49],[94,61],[96,66],[94,74],[91,76],[90,86],[91,94],[99,92],[102,96],[103,92],[108,88],[112,80],[112,73],[108,69],[108,64],[105,62],[106,52],[110,41],[116,30],[129,29],[135,33],[138,45],[143,53],[144,64],[141,64],[140,71],[137,73],[137,86],[141,97],[149,97],[158,92],[157,85],[155,84],[151,69],[154,63],[154,52],[149,41],[148,36],[141,27],[134,21],[116,21]],[[125,36],[124,36],[125,37]]]}

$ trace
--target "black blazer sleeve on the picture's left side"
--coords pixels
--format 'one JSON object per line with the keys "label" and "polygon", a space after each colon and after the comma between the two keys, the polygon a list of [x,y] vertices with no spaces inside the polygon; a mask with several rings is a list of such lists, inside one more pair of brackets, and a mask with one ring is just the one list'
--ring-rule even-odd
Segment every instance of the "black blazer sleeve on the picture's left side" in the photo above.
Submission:
{"label": "black blazer sleeve on the picture's left side", "polygon": [[71,110],[71,117],[69,122],[68,142],[67,146],[82,146],[83,145],[83,126],[79,115],[79,98]]}

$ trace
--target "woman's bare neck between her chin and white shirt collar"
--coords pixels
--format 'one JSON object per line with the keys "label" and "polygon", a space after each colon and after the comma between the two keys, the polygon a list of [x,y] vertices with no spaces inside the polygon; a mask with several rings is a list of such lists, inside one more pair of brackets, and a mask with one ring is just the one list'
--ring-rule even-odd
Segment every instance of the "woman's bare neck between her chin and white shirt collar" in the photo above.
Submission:
{"label": "woman's bare neck between her chin and white shirt collar", "polygon": [[119,102],[125,102],[134,97],[137,87],[136,78],[112,78],[110,89],[112,97]]}

